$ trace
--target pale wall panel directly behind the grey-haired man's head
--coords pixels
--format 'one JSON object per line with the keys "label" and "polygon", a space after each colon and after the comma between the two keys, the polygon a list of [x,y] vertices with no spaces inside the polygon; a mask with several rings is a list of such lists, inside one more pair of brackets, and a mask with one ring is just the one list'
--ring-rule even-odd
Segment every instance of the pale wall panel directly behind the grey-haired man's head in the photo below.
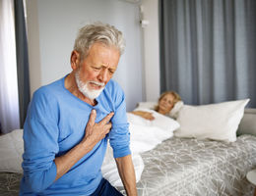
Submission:
{"label": "pale wall panel directly behind the grey-haired man's head", "polygon": [[90,22],[115,25],[126,38],[125,54],[114,75],[123,87],[127,110],[143,100],[142,30],[139,5],[121,0],[27,0],[32,92],[70,69],[78,29]]}

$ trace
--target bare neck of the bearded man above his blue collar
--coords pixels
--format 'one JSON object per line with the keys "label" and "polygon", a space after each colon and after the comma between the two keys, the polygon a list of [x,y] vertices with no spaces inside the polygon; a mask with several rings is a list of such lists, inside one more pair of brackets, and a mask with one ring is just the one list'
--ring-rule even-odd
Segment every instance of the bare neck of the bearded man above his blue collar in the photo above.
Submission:
{"label": "bare neck of the bearded man above his blue collar", "polygon": [[70,91],[73,95],[75,95],[77,98],[81,99],[82,101],[92,105],[92,106],[96,106],[96,99],[92,100],[89,99],[88,97],[86,97],[78,88],[76,79],[75,79],[75,74],[69,73],[66,78],[65,78],[65,82],[64,82],[64,86],[65,88],[68,89],[68,91]]}

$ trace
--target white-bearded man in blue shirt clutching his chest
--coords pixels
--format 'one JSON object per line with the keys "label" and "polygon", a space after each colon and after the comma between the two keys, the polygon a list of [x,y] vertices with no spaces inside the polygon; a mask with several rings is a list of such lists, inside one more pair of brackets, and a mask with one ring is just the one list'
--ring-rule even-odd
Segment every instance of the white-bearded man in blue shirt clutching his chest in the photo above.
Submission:
{"label": "white-bearded man in blue shirt clutching his chest", "polygon": [[121,195],[100,172],[108,139],[127,195],[137,195],[125,97],[111,79],[123,49],[114,26],[86,25],[71,54],[73,71],[34,92],[20,195]]}

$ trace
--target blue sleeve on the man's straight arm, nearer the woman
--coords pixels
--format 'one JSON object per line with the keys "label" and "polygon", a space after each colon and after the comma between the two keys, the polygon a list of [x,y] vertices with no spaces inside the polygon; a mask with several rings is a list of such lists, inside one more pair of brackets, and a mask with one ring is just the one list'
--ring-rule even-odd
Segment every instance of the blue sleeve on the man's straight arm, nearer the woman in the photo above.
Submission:
{"label": "blue sleeve on the man's straight arm, nearer the woman", "polygon": [[[118,86],[119,87],[119,86]],[[112,128],[109,133],[110,145],[113,149],[114,158],[125,157],[131,154],[129,123],[126,116],[125,95],[122,89],[118,89],[114,100],[114,116],[111,120]]]}

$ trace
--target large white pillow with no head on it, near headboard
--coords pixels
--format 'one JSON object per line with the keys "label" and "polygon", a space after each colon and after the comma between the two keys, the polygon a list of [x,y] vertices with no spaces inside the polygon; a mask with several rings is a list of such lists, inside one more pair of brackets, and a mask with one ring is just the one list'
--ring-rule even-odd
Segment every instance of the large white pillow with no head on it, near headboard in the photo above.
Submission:
{"label": "large white pillow with no head on it, near headboard", "polygon": [[244,99],[202,106],[184,105],[177,118],[180,127],[174,135],[233,142],[248,102],[249,99]]}

